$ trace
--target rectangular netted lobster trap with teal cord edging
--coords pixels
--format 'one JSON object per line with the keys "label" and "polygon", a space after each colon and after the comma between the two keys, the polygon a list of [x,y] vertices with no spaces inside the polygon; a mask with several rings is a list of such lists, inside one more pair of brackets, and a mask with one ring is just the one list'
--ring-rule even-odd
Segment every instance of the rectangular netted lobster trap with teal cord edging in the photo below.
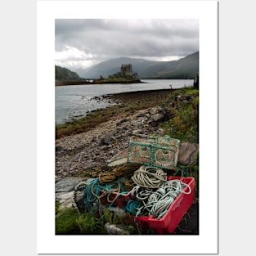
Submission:
{"label": "rectangular netted lobster trap with teal cord edging", "polygon": [[132,136],[128,146],[128,163],[175,169],[180,141],[168,136]]}

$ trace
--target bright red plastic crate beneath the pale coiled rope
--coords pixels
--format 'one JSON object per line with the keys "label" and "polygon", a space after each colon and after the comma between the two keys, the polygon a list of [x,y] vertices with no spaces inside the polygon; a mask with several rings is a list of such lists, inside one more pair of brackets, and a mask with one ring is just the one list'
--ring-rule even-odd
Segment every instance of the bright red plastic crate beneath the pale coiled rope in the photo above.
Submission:
{"label": "bright red plastic crate beneath the pale coiled rope", "polygon": [[[180,193],[173,201],[173,204],[167,210],[162,218],[154,218],[153,216],[138,216],[137,223],[142,228],[154,228],[158,234],[173,233],[183,216],[190,209],[195,196],[195,178],[194,177],[172,177],[168,176],[168,180],[179,179],[191,187],[190,194]],[[185,187],[184,191],[188,191]],[[135,217],[133,217],[135,221]]]}

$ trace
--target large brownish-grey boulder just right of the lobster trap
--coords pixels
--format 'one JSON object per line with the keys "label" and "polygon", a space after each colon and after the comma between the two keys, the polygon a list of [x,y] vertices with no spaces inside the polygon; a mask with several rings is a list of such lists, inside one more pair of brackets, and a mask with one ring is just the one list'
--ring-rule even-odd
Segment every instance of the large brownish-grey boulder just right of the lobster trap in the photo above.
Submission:
{"label": "large brownish-grey boulder just right of the lobster trap", "polygon": [[196,163],[199,154],[199,144],[190,142],[181,142],[179,146],[178,164],[193,165]]}

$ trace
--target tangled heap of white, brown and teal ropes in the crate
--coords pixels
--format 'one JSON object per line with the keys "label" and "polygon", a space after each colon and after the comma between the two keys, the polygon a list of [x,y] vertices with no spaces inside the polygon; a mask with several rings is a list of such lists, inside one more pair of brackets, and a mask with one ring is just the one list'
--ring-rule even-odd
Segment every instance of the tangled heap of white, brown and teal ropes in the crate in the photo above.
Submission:
{"label": "tangled heap of white, brown and teal ropes in the crate", "polygon": [[[130,177],[131,173],[133,173],[132,177]],[[127,190],[128,185],[129,190]],[[188,191],[185,190],[186,186]],[[163,217],[180,193],[191,193],[191,187],[188,184],[179,179],[167,180],[167,174],[160,168],[142,165],[137,169],[137,165],[131,164],[119,166],[109,175],[101,173],[98,178],[79,183],[74,189],[72,199],[76,209],[79,209],[77,196],[82,190],[83,208],[87,211],[97,212],[99,200],[103,196],[107,195],[107,201],[112,205],[119,195],[131,191],[133,199],[128,201],[124,210],[132,215],[153,215],[154,218]],[[116,192],[117,195],[110,200],[112,192]]]}

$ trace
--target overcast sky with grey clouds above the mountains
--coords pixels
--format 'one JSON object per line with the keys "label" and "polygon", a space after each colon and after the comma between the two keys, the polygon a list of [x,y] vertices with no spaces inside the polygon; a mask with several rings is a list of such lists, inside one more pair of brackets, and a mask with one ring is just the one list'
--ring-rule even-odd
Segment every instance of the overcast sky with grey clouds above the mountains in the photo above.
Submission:
{"label": "overcast sky with grey clouds above the mountains", "polygon": [[88,68],[127,56],[173,61],[199,51],[199,20],[57,19],[56,65]]}

